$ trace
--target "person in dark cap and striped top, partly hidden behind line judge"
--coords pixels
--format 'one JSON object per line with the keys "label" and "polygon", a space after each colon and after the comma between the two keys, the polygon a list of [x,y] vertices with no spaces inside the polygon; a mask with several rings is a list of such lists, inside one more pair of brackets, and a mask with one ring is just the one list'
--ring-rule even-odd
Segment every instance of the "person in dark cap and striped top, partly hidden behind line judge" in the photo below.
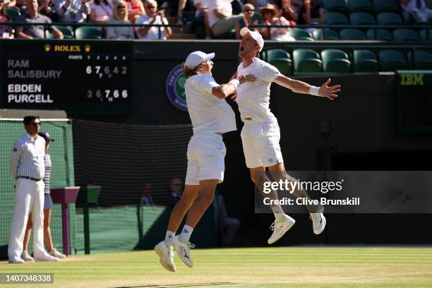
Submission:
{"label": "person in dark cap and striped top, partly hidden behind line judge", "polygon": [[[49,227],[49,222],[51,222],[51,209],[52,209],[52,200],[51,194],[49,193],[49,189],[51,188],[51,155],[48,153],[49,145],[54,142],[54,139],[49,136],[48,132],[40,132],[37,133],[40,137],[45,140],[45,156],[44,156],[44,244],[47,247],[47,251],[49,255],[54,256],[56,258],[66,258],[66,255],[56,251],[54,248],[54,244],[52,244],[52,236],[51,236],[51,228]],[[23,245],[23,253],[21,254],[21,258],[23,260],[29,261],[33,260],[33,258],[28,253],[28,242],[30,241],[30,232],[32,231],[32,217],[31,213],[28,216],[27,228],[25,229],[24,235],[24,245]]]}

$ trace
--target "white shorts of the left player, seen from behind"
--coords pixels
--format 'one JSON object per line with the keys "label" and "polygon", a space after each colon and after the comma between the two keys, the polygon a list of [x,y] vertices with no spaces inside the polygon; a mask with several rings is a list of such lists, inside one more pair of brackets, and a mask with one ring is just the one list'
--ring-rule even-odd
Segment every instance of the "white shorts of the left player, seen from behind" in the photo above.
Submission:
{"label": "white shorts of the left player, seen from behind", "polygon": [[216,133],[199,133],[189,140],[187,185],[199,185],[201,180],[224,181],[225,148],[222,136]]}

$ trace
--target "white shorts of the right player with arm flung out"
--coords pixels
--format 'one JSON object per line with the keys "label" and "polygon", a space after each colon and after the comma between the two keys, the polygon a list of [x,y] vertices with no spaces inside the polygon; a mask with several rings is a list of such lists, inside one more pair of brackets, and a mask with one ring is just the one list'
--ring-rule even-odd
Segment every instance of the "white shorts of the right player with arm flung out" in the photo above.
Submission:
{"label": "white shorts of the right player with arm flung out", "polygon": [[244,124],[241,129],[246,167],[269,167],[284,162],[280,151],[280,128],[277,120]]}

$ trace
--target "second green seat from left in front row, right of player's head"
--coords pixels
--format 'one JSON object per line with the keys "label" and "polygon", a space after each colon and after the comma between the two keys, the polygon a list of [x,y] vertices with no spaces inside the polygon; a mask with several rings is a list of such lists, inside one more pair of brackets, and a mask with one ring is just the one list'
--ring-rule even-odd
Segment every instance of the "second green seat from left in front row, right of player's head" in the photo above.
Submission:
{"label": "second green seat from left in front row, right of player's head", "polygon": [[295,73],[320,73],[323,62],[318,53],[311,49],[296,49],[292,53]]}

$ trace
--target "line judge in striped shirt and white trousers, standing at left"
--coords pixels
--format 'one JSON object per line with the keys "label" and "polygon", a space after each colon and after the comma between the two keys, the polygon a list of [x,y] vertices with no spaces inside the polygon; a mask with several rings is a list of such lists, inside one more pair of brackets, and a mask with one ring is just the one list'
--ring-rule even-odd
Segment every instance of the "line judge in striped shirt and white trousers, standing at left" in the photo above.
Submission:
{"label": "line judge in striped shirt and white trousers, standing at left", "polygon": [[40,132],[39,116],[25,116],[25,133],[12,148],[9,169],[15,181],[15,210],[9,235],[9,263],[24,263],[23,240],[28,215],[32,213],[33,253],[36,261],[56,261],[44,249],[44,155],[45,140]]}

